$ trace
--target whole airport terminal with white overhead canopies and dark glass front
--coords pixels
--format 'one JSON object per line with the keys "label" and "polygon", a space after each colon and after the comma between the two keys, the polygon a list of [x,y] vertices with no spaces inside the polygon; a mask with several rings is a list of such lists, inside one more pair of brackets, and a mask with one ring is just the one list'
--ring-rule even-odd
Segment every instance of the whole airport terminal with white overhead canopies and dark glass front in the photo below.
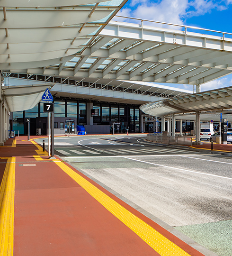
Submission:
{"label": "whole airport terminal with white overhead canopies and dark glass front", "polygon": [[198,141],[201,120],[217,126],[223,113],[232,121],[232,89],[200,89],[232,73],[230,36],[112,20],[125,2],[1,2],[1,145],[10,130],[27,134],[26,118],[31,134],[47,134],[40,103],[46,88],[54,97],[55,134],[84,126],[89,134],[166,130],[174,136],[185,128],[194,129]]}

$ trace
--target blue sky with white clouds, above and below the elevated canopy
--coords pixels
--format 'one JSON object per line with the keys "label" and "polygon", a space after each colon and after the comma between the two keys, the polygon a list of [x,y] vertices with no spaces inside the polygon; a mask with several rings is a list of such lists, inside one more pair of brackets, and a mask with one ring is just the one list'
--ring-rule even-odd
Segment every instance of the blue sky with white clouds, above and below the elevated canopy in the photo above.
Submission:
{"label": "blue sky with white clouds, above and below the elevated canopy", "polygon": [[[128,0],[118,15],[232,33],[232,0]],[[189,85],[169,85],[192,90]],[[232,75],[201,88],[205,91],[226,86],[232,86]]]}

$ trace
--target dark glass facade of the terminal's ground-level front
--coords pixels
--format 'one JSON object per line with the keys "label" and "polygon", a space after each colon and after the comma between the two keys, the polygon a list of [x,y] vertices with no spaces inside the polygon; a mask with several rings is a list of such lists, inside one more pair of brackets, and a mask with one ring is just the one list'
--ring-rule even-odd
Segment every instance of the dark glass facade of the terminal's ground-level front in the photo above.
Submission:
{"label": "dark glass facade of the terminal's ground-level front", "polygon": [[[94,102],[93,109],[98,109],[98,116],[92,117],[94,125],[109,125],[111,127],[113,122],[120,122],[119,132],[125,132],[129,128],[129,132],[140,131],[138,106],[130,106],[115,103],[100,103]],[[89,111],[90,113],[90,111]],[[46,123],[45,117],[48,117],[48,113],[44,112],[44,104],[40,103],[31,110],[19,111],[12,113],[13,129],[19,130],[20,134],[27,134],[27,124],[25,118],[31,118],[31,126],[34,127],[34,133],[36,133],[37,122]],[[54,117],[55,118],[77,118],[77,125],[87,125],[87,101],[81,100],[69,100],[69,99],[54,99]],[[40,118],[39,121],[36,118]],[[88,117],[88,120],[91,116]],[[64,130],[65,124],[63,121],[55,120],[55,128]],[[89,122],[89,121],[88,121]],[[45,134],[47,126],[43,129]],[[37,127],[38,128],[38,127]],[[32,129],[31,129],[32,131]]]}

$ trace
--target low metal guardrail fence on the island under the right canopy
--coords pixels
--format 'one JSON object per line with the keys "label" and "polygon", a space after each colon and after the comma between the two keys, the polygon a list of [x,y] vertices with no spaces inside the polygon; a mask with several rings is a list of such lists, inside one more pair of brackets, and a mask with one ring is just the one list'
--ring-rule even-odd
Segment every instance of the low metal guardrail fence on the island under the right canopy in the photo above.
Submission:
{"label": "low metal guardrail fence on the island under the right canopy", "polygon": [[193,146],[193,138],[195,137],[147,134],[147,140],[168,145]]}

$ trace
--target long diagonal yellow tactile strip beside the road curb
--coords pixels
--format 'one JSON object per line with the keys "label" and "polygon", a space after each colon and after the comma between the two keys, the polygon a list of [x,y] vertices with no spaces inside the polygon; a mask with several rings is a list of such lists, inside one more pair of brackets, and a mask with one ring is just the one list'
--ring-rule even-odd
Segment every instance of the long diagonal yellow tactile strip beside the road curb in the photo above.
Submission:
{"label": "long diagonal yellow tactile strip beside the road curb", "polygon": [[160,255],[165,256],[188,256],[187,252],[165,238],[158,231],[153,229],[142,219],[139,219],[129,210],[126,210],[119,203],[107,196],[104,192],[95,187],[92,183],[81,177],[79,174],[71,170],[70,167],[62,162],[55,162],[66,174],[76,181],[83,189],[85,189],[93,198],[101,203],[108,211],[120,219],[128,228],[134,231],[143,239],[150,247],[152,247]]}

